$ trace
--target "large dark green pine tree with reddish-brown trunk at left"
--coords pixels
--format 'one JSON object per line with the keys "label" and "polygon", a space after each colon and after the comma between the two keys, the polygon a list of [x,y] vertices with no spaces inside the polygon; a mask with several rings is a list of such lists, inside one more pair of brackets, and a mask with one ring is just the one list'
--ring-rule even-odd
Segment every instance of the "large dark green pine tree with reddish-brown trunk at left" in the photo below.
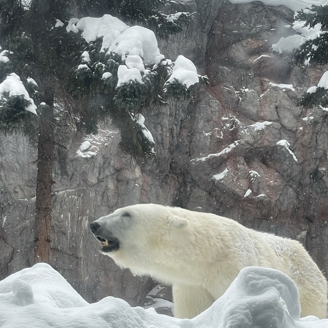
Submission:
{"label": "large dark green pine tree with reddish-brown trunk at left", "polygon": [[[87,133],[96,133],[98,122],[110,117],[121,131],[125,151],[153,156],[155,145],[148,137],[142,108],[165,103],[170,95],[190,94],[186,85],[168,83],[173,64],[165,60],[156,67],[145,64],[139,80],[118,85],[124,59],[101,52],[101,38],[87,43],[81,31],[68,32],[60,19],[68,20],[76,6],[80,15],[112,13],[130,25],[141,22],[166,35],[179,32],[192,14],[155,10],[170,8],[168,0],[32,0],[29,7],[22,0],[1,0],[1,5],[0,131],[21,131],[37,139],[33,261],[49,262],[52,166],[63,117]],[[19,85],[20,91],[13,94],[7,88],[10,83]],[[58,103],[66,106],[55,110]]]}

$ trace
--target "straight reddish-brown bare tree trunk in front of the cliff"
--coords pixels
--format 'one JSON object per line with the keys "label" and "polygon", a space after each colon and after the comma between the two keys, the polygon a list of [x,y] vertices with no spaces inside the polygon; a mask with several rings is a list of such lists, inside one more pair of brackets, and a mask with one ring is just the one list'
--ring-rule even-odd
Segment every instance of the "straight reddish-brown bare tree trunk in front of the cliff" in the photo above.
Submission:
{"label": "straight reddish-brown bare tree trunk in front of the cliff", "polygon": [[39,120],[35,224],[34,224],[34,257],[33,262],[50,261],[50,227],[51,227],[51,186],[54,153],[53,104],[45,106]]}

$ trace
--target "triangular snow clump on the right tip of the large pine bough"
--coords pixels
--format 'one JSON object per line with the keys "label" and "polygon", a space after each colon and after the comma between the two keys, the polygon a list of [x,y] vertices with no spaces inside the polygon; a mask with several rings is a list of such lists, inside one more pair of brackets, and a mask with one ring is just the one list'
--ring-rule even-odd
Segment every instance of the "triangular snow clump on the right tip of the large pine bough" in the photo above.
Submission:
{"label": "triangular snow clump on the right tip of the large pine bough", "polygon": [[184,84],[187,89],[199,81],[196,66],[185,56],[177,57],[167,83],[173,83],[175,79],[180,84]]}

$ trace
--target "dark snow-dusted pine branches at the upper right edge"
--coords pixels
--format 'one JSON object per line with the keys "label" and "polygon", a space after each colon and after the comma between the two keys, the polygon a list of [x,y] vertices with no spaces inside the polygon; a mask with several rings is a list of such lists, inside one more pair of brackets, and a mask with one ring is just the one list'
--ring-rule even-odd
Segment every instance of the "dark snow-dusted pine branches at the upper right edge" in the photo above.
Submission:
{"label": "dark snow-dusted pine branches at the upper right edge", "polygon": [[[313,5],[311,8],[306,8],[305,11],[298,12],[295,18],[304,21],[304,27],[313,28],[317,24],[321,24],[322,31],[318,37],[307,40],[295,51],[294,58],[296,64],[328,64],[328,33],[325,33],[328,28],[328,6]],[[305,108],[315,106],[328,107],[328,84],[326,85],[325,83],[324,75],[317,87],[311,87],[303,94],[298,105]]]}

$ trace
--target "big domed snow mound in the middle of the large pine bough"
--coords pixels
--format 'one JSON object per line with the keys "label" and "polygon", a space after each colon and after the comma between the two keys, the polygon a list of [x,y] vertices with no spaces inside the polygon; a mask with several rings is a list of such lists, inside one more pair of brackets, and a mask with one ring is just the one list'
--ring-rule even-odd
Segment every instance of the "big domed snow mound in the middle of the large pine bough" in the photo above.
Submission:
{"label": "big domed snow mound in the middle of the large pine bough", "polygon": [[113,52],[125,60],[128,55],[144,58],[146,64],[158,64],[164,58],[160,54],[155,33],[142,26],[132,26],[113,40],[108,53]]}

